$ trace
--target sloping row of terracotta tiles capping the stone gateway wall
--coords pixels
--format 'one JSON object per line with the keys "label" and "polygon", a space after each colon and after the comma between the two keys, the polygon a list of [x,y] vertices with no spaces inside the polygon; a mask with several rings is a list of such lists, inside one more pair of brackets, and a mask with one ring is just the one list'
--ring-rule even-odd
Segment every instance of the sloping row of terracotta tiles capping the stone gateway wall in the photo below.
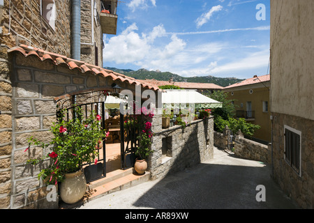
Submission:
{"label": "sloping row of terracotta tiles capping the stone gateway wall", "polygon": [[126,75],[113,72],[112,70],[107,70],[100,68],[98,66],[91,65],[89,63],[84,63],[82,61],[77,61],[74,59],[67,58],[66,56],[60,54],[54,54],[52,52],[47,52],[43,49],[38,49],[36,47],[31,47],[27,45],[20,45],[8,49],[8,52],[20,52],[25,57],[33,55],[37,56],[41,61],[50,60],[57,66],[66,65],[70,70],[78,69],[80,72],[91,72],[94,75],[103,75],[104,77],[110,77],[113,80],[119,79],[121,82],[128,82],[129,84],[142,85],[143,88],[151,89],[154,91],[161,91],[155,84],[142,83],[135,80],[133,77],[128,77]]}

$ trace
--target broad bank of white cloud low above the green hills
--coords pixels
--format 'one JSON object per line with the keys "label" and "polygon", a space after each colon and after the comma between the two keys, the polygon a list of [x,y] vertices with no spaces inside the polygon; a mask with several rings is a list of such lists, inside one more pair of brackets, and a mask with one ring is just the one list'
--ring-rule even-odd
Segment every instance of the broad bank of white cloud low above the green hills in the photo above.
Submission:
{"label": "broad bank of white cloud low above the green hills", "polygon": [[[163,38],[163,39],[160,39]],[[252,43],[250,41],[250,43]],[[118,36],[105,40],[106,63],[133,64],[147,70],[162,70],[184,77],[247,75],[255,70],[266,72],[268,45],[235,45],[230,42],[197,43],[166,32],[163,24],[149,33],[138,33],[135,23]]]}

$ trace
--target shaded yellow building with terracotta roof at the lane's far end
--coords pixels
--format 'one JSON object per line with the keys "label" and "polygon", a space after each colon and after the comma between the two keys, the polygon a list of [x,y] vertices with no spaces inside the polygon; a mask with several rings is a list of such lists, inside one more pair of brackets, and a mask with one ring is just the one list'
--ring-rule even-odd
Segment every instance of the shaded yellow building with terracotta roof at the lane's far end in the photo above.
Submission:
{"label": "shaded yellow building with terracotta roof at the lane's far end", "polygon": [[269,111],[270,76],[264,75],[246,79],[223,89],[228,93],[236,109],[236,118],[245,118],[249,123],[260,125],[253,138],[271,141],[271,120]]}

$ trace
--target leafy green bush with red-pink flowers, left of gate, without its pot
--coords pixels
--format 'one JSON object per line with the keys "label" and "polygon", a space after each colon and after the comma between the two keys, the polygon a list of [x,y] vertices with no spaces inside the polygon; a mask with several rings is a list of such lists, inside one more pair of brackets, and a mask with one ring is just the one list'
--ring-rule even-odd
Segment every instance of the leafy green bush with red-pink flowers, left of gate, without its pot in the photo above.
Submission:
{"label": "leafy green bush with red-pink flowers, left of gate, without its pot", "polygon": [[101,140],[109,134],[100,127],[101,117],[95,112],[83,118],[80,107],[75,107],[74,111],[75,118],[70,121],[65,121],[66,110],[61,111],[59,121],[51,127],[54,137],[49,143],[42,143],[33,137],[29,138],[29,147],[35,144],[51,150],[44,157],[27,161],[29,164],[38,164],[50,160],[50,164],[38,174],[38,178],[43,178],[47,184],[61,182],[64,174],[79,170],[84,163],[96,164],[97,148]]}

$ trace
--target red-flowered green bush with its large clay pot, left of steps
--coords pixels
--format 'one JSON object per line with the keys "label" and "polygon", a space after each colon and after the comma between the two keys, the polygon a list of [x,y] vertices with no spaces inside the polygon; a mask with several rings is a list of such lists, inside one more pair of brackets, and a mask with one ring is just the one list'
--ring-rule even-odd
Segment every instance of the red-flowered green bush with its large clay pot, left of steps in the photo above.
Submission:
{"label": "red-flowered green bush with its large clay pot, left of steps", "polygon": [[74,107],[73,114],[75,118],[65,121],[66,110],[61,111],[59,121],[51,127],[54,137],[49,143],[29,138],[29,147],[35,144],[51,149],[51,152],[27,161],[38,164],[50,159],[50,164],[40,171],[38,179],[42,178],[48,185],[60,183],[60,197],[66,203],[76,203],[84,196],[87,183],[82,173],[82,164],[97,163],[96,147],[100,144],[99,139],[105,139],[109,134],[100,128],[100,116],[95,112],[84,119],[80,107]]}

